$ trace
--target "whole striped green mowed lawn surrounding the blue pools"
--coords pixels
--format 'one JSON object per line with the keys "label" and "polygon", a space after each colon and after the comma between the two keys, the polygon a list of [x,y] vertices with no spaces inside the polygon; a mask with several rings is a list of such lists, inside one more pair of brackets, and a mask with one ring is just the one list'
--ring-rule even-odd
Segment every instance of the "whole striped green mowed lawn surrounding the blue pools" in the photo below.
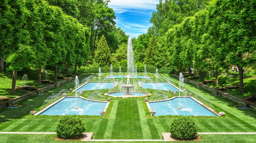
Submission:
{"label": "whole striped green mowed lawn surrounding the blue pools", "polygon": [[[103,73],[107,74],[107,73]],[[85,74],[79,78],[89,76]],[[119,75],[119,73],[118,73]],[[139,75],[139,74],[138,74]],[[142,74],[143,75],[143,74]],[[154,73],[149,74],[154,76]],[[171,75],[160,74],[160,80]],[[168,79],[178,86],[178,79]],[[52,88],[48,95],[33,96],[18,105],[20,108],[0,110],[0,132],[55,132],[59,118],[30,118],[29,111],[39,108],[44,100],[61,88],[74,87],[74,82],[67,82],[62,86]],[[211,101],[212,106],[224,111],[227,117],[194,118],[199,126],[198,132],[256,132],[256,111],[252,109],[238,109],[239,105],[220,96],[208,95],[208,91],[195,88],[185,83],[182,88],[195,92]],[[112,98],[113,108],[109,118],[83,118],[86,132],[94,132],[94,139],[161,139],[162,132],[169,132],[169,125],[173,118],[147,118],[142,106],[144,98]],[[1,142],[54,142],[56,135],[1,135]],[[203,142],[253,142],[256,135],[199,135]],[[28,141],[26,140],[28,139]],[[61,141],[58,141],[61,142]]]}

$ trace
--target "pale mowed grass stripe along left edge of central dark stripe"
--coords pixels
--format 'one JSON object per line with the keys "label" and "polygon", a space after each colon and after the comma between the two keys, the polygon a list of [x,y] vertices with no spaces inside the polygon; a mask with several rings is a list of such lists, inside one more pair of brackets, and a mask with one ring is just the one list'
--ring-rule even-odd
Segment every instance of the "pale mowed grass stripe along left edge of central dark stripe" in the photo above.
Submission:
{"label": "pale mowed grass stripe along left edge of central dark stripe", "polygon": [[112,107],[109,119],[108,119],[108,123],[107,123],[107,129],[106,132],[104,134],[104,139],[111,139],[112,136],[112,131],[113,131],[113,127],[115,124],[115,119],[116,119],[116,114],[117,114],[117,106],[118,106],[118,100],[116,100],[114,102],[114,105]]}

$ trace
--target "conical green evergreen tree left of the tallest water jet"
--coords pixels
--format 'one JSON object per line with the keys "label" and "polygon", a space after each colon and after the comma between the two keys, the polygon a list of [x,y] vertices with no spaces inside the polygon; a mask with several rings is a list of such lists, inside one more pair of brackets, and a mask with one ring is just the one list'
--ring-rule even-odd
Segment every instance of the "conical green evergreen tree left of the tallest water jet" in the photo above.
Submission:
{"label": "conical green evergreen tree left of the tallest water jet", "polygon": [[100,67],[110,65],[110,49],[104,35],[101,36],[95,52],[94,63]]}

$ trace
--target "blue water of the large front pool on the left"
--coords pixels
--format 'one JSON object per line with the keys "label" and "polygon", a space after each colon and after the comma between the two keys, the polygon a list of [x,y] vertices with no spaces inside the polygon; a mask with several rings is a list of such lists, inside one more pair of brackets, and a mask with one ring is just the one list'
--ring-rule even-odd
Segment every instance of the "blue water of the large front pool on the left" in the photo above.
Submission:
{"label": "blue water of the large front pool on the left", "polygon": [[[106,102],[95,102],[80,97],[65,97],[39,115],[101,115]],[[75,110],[75,106],[78,107]]]}

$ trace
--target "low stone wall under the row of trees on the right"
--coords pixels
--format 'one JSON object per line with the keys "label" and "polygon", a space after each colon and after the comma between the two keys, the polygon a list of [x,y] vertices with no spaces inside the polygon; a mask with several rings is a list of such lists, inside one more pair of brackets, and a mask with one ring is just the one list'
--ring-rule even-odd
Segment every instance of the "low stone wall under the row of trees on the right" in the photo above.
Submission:
{"label": "low stone wall under the row of trees on the right", "polygon": [[[173,75],[178,77],[175,74],[173,74]],[[218,90],[218,89],[215,89],[215,88],[212,88],[212,87],[208,87],[206,85],[202,85],[202,84],[200,84],[198,82],[195,82],[193,80],[189,80],[187,78],[184,78],[184,82],[192,83],[195,86],[201,87],[201,88],[203,88],[205,90],[208,90],[208,91],[210,91],[212,93],[215,93],[217,95],[223,96],[224,98],[227,98],[227,99],[229,99],[231,101],[234,101],[234,102],[242,104],[242,105],[246,105],[247,107],[250,107],[251,109],[256,110],[256,103],[253,103],[253,102],[250,102],[250,101],[247,101],[247,100],[243,100],[242,98],[236,97],[236,96],[228,94],[228,93],[224,93],[221,90]]]}

